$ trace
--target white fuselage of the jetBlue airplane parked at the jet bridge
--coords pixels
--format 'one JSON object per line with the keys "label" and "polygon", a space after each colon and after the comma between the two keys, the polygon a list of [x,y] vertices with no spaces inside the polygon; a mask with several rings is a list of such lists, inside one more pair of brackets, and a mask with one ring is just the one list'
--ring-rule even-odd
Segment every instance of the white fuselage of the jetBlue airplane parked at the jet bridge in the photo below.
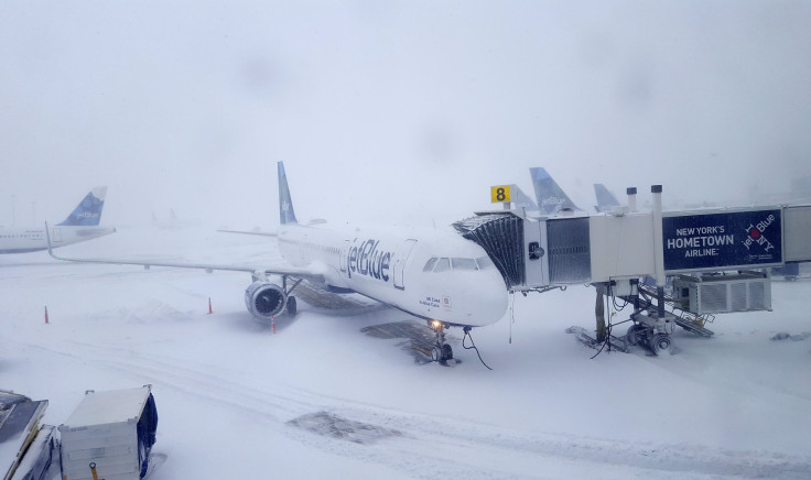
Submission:
{"label": "white fuselage of the jetBlue airplane parked at the jet bridge", "polygon": [[421,318],[478,327],[507,309],[501,274],[476,243],[453,231],[282,225],[294,266],[316,266],[336,291],[357,292]]}

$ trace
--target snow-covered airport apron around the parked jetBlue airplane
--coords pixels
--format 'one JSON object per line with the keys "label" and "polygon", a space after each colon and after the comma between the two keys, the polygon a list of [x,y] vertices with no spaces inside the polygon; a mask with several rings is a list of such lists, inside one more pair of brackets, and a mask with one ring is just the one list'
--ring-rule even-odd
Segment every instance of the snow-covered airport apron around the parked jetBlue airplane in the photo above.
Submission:
{"label": "snow-covered airport apron around the parked jetBlue airplane", "polygon": [[[202,229],[120,229],[61,253],[279,261],[272,239]],[[661,357],[590,359],[564,330],[593,328],[592,288],[519,295],[473,331],[491,371],[456,330],[453,368],[360,331],[408,319],[396,309],[300,303],[274,335],[245,309],[249,282],[2,255],[0,388],[50,400],[58,425],[85,390],[152,384],[154,480],[811,478],[809,280],[775,282],[774,312],[720,315],[712,339],[677,331]]]}

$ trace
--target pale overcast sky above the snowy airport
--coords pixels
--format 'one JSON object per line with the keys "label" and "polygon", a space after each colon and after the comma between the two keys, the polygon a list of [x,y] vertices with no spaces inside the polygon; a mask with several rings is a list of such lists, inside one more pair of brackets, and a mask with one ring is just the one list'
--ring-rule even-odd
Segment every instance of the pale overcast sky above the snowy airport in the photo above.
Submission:
{"label": "pale overcast sky above the snowy airport", "polygon": [[811,175],[807,1],[0,0],[0,225],[443,222],[544,166],[666,201]]}

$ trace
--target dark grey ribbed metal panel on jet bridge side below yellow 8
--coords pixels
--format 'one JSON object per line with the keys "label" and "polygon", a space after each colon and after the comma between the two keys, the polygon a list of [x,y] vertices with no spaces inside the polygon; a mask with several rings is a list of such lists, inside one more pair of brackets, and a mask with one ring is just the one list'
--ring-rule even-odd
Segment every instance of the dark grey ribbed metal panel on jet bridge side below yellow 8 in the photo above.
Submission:
{"label": "dark grey ribbed metal panel on jet bridge side below yellow 8", "polygon": [[547,242],[551,284],[592,280],[588,218],[547,220]]}

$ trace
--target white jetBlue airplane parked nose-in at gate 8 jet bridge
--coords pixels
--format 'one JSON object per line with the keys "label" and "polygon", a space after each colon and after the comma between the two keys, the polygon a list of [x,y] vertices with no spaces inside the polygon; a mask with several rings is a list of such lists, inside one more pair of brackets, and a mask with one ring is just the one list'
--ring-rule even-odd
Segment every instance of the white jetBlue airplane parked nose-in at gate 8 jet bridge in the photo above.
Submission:
{"label": "white jetBlue airplane parked nose-in at gate 8 jet bridge", "polygon": [[[436,334],[434,360],[445,362],[453,350],[444,330],[462,327],[468,332],[498,321],[507,310],[507,290],[498,269],[478,244],[453,230],[400,230],[360,228],[327,222],[302,225],[295,218],[282,162],[279,174],[279,248],[290,264],[283,268],[247,268],[128,260],[66,259],[79,262],[179,266],[207,271],[242,271],[253,282],[245,292],[248,310],[271,319],[296,310],[293,291],[306,280],[332,293],[359,293],[425,319]],[[270,277],[278,275],[281,282]],[[289,283],[292,284],[289,286]]]}

